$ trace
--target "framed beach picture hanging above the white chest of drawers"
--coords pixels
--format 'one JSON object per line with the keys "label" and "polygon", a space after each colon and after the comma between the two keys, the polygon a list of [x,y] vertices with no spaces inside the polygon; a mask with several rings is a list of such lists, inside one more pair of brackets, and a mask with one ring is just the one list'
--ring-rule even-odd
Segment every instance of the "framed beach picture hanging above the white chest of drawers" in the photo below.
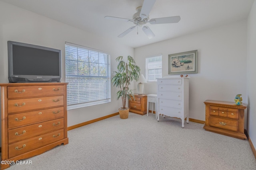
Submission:
{"label": "framed beach picture hanging above the white chest of drawers", "polygon": [[169,74],[197,73],[197,50],[168,55]]}

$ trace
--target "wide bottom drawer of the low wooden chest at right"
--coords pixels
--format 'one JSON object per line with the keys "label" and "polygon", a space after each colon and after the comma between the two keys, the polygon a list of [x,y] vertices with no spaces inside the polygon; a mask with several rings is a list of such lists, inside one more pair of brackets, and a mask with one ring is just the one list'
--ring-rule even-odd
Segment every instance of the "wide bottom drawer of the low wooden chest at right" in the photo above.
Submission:
{"label": "wide bottom drawer of the low wooden chest at right", "polygon": [[210,117],[210,126],[238,131],[238,121],[230,119],[222,119],[218,117]]}

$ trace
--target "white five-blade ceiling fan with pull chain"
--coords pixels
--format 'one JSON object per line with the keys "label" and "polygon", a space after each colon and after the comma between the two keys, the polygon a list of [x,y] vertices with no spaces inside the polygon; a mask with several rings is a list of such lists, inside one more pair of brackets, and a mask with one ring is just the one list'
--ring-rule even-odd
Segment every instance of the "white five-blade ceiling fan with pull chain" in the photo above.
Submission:
{"label": "white five-blade ceiling fan with pull chain", "polygon": [[[124,37],[124,35],[130,33],[136,26],[138,29],[139,27],[142,27],[142,31],[148,36],[149,39],[155,37],[154,33],[151,31],[151,29],[148,26],[145,26],[146,23],[150,24],[160,24],[160,23],[177,23],[180,21],[180,16],[172,16],[172,17],[165,17],[165,18],[152,18],[149,20],[149,13],[154,5],[156,0],[144,0],[143,5],[136,8],[136,13],[133,15],[132,19],[126,19],[126,18],[118,18],[118,17],[112,17],[112,16],[105,16],[104,18],[110,19],[110,20],[116,20],[116,21],[126,21],[126,22],[133,22],[135,26],[130,27],[118,37]],[[138,34],[138,31],[137,31]]]}

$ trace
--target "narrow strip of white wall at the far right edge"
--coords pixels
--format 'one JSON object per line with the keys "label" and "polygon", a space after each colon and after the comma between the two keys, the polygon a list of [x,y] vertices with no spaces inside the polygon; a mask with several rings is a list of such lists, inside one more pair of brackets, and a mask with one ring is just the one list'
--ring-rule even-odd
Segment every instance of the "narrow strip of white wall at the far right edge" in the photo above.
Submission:
{"label": "narrow strip of white wall at the far right edge", "polygon": [[256,1],[248,16],[248,51],[247,51],[247,95],[248,95],[248,134],[256,147]]}

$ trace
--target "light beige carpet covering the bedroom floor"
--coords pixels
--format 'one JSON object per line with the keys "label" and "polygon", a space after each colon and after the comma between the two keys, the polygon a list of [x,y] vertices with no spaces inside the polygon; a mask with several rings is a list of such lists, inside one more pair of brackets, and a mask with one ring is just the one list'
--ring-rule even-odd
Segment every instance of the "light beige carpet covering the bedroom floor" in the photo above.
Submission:
{"label": "light beige carpet covering the bedroom floor", "polygon": [[68,145],[8,170],[256,170],[248,140],[205,131],[200,123],[184,126],[151,113],[116,115],[68,131]]}

